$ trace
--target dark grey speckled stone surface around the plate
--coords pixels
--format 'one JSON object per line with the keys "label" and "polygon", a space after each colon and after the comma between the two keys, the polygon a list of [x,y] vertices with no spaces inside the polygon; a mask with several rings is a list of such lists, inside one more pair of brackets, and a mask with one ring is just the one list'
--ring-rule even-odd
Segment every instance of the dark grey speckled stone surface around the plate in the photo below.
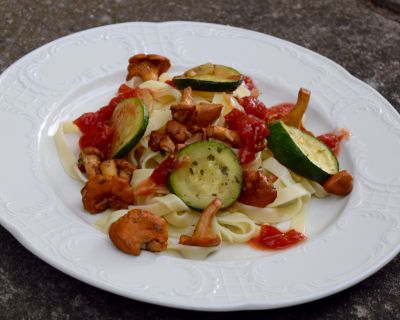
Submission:
{"label": "dark grey speckled stone surface around the plate", "polygon": [[[192,20],[268,33],[316,51],[367,82],[400,111],[396,0],[178,1],[0,0],[0,72],[61,36],[125,21]],[[1,319],[222,319],[153,306],[88,286],[52,268],[0,227]],[[400,257],[331,297],[246,319],[400,319]]]}

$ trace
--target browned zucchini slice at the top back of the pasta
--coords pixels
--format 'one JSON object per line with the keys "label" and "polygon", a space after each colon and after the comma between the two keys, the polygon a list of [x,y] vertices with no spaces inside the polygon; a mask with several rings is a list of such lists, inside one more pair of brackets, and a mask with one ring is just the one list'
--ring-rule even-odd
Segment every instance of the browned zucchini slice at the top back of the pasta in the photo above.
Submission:
{"label": "browned zucchini slice at the top back of the pasta", "polygon": [[231,92],[242,83],[239,71],[220,64],[206,63],[189,69],[172,79],[178,89],[191,87],[198,91]]}

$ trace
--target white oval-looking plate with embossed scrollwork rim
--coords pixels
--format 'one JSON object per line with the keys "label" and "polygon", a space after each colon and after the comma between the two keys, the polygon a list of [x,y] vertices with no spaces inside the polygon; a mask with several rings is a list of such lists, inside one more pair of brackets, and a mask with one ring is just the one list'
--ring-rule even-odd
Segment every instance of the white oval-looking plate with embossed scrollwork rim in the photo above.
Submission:
{"label": "white oval-looking plate with embossed scrollwork rim", "polygon": [[[232,246],[206,261],[116,250],[81,209],[80,186],[63,171],[57,125],[106,104],[139,52],[174,68],[212,61],[252,76],[271,105],[311,90],[307,126],[353,136],[340,162],[355,176],[344,199],[313,199],[309,239],[266,254]],[[0,221],[28,250],[96,287],[160,305],[198,310],[269,309],[343,290],[400,249],[400,120],[376,91],[330,60],[274,37],[226,26],[126,23],[49,43],[0,78]]]}

